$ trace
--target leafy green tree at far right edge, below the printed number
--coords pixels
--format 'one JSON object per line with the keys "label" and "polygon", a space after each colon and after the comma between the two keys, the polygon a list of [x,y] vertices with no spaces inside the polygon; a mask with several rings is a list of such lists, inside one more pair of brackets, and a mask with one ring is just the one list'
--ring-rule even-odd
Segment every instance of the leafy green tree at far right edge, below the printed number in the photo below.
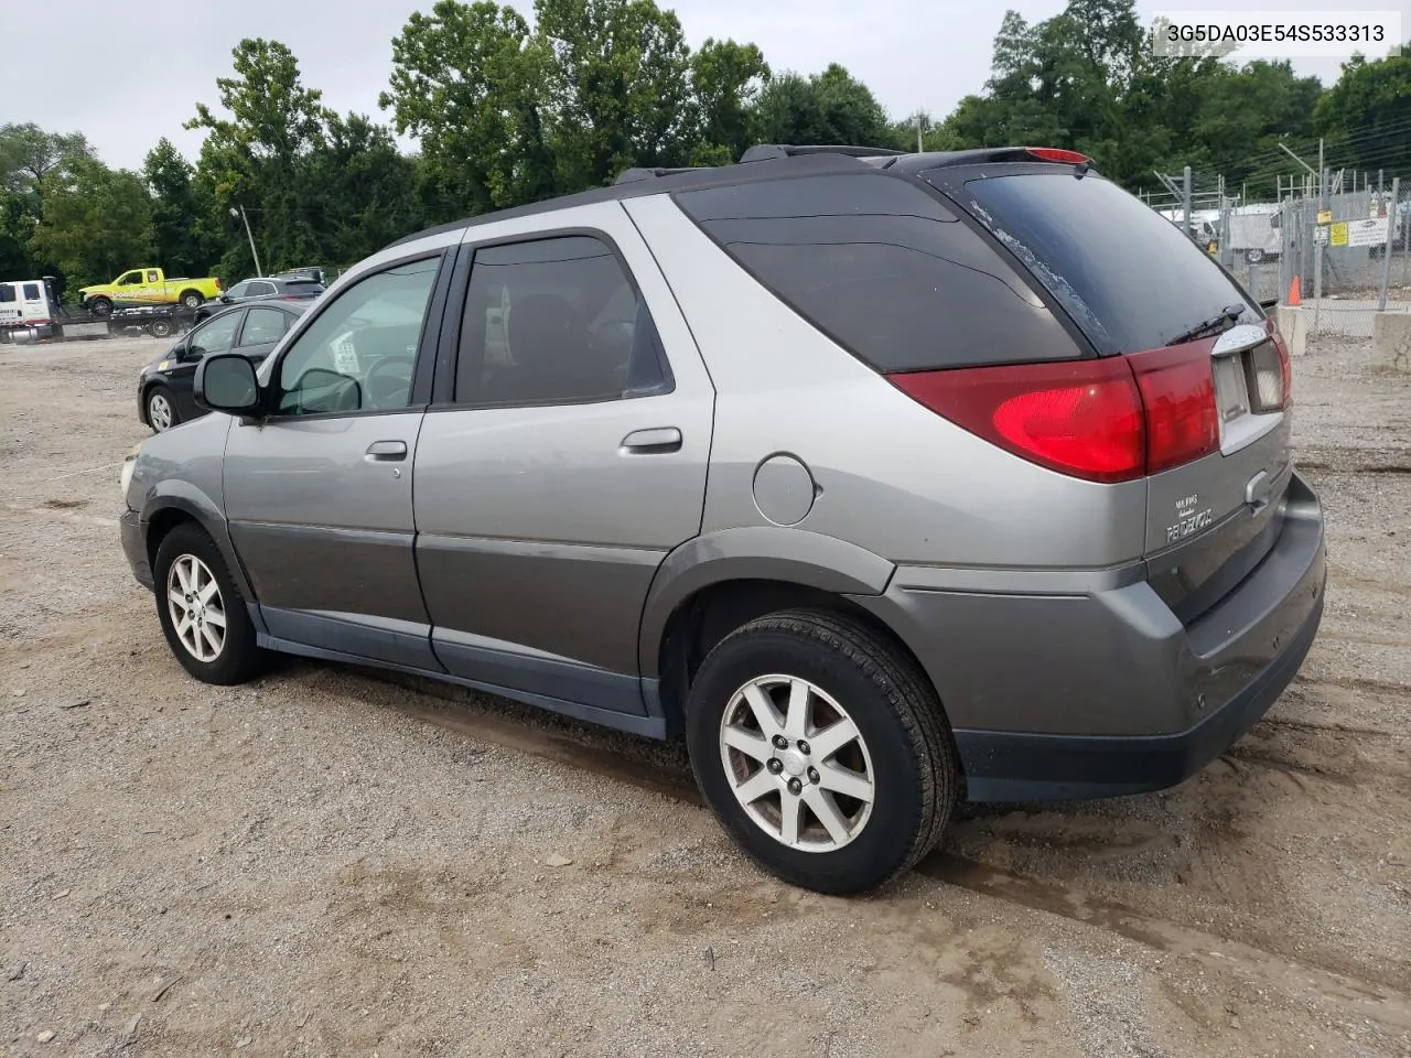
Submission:
{"label": "leafy green tree at far right edge, below the printed number", "polygon": [[1332,137],[1340,161],[1359,169],[1411,158],[1411,55],[1367,62],[1355,55],[1314,110],[1318,134]]}

